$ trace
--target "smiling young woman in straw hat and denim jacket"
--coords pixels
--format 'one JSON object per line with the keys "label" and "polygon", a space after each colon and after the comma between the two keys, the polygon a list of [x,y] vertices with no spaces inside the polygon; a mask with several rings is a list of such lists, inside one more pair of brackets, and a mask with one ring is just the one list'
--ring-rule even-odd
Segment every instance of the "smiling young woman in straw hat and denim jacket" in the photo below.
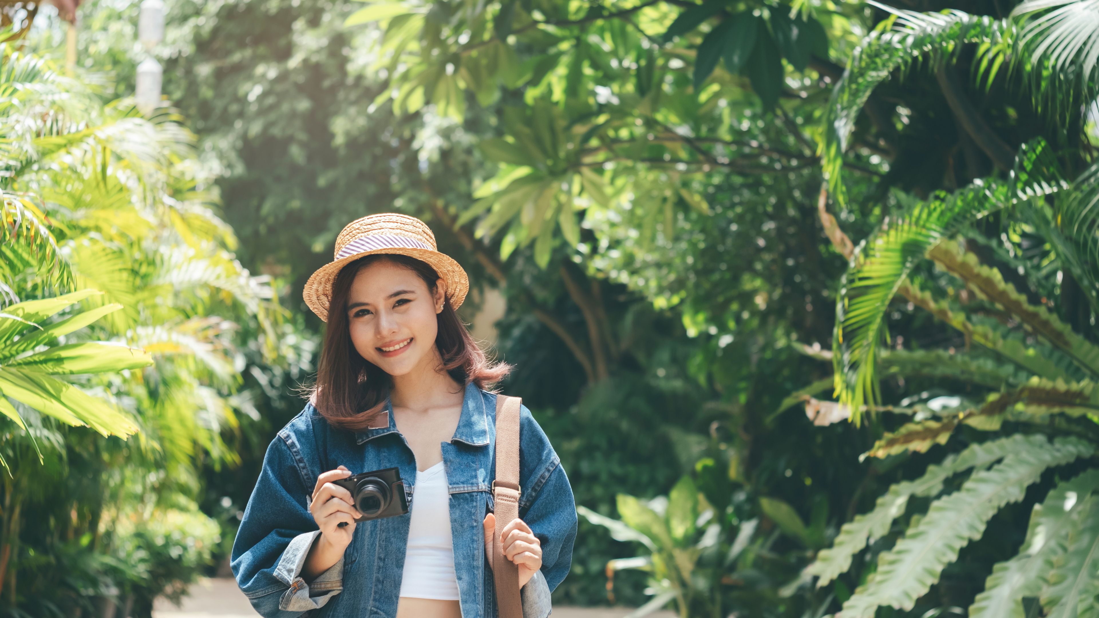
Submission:
{"label": "smiling young woman in straw hat and denim jacket", "polygon": [[[265,617],[492,618],[496,395],[455,313],[469,284],[419,219],[365,217],[306,285],[328,322],[317,385],[275,440],[233,543],[233,574]],[[565,471],[520,409],[519,518],[503,527],[524,618],[550,614],[576,537]],[[397,467],[409,512],[356,522],[353,473]]]}

